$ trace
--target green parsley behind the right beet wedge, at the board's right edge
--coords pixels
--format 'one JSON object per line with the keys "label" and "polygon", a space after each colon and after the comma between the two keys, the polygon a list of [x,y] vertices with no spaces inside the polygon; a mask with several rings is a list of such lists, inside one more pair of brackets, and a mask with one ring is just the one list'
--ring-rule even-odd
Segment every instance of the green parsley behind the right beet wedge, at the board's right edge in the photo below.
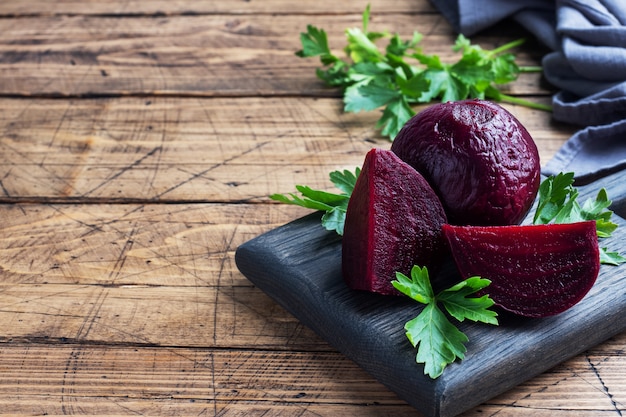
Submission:
{"label": "green parsley behind the right beet wedge, at the board's right edge", "polygon": [[[606,190],[600,189],[595,199],[589,199],[581,206],[577,201],[579,192],[573,184],[573,172],[561,172],[543,180],[539,186],[539,202],[533,223],[573,223],[595,220],[598,238],[611,236],[617,229],[617,224],[610,220],[613,212],[608,210],[611,200]],[[626,258],[619,253],[600,248],[600,263],[619,265],[624,262]]]}

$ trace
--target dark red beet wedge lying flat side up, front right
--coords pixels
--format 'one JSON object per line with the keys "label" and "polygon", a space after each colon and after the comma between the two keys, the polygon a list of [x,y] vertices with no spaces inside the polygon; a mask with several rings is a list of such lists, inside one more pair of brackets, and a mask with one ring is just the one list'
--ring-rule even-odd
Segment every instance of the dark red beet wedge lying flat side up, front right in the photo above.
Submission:
{"label": "dark red beet wedge lying flat side up, front right", "polygon": [[491,280],[496,305],[527,317],[561,313],[578,303],[600,271],[595,221],[525,226],[444,225],[463,278]]}

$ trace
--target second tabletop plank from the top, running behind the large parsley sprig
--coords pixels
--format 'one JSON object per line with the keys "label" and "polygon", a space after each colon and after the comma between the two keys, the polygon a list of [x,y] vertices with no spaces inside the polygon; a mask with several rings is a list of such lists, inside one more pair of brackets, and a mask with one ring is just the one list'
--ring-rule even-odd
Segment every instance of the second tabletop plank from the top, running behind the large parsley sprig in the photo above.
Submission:
{"label": "second tabletop plank from the top, running behind the large parsley sprig", "polygon": [[[360,26],[361,17],[356,13],[0,19],[0,94],[336,96],[336,90],[316,79],[317,59],[294,55],[301,48],[299,34],[309,23],[325,28],[331,48],[341,51],[345,29]],[[418,30],[425,35],[427,52],[439,53],[444,60],[452,54],[455,35],[439,14],[374,14],[371,30],[385,29],[404,37]],[[523,35],[516,26],[505,25],[476,40],[487,48]],[[523,48],[520,63],[536,64],[543,52],[534,46]],[[512,94],[549,91],[538,75],[531,74],[510,88]]]}

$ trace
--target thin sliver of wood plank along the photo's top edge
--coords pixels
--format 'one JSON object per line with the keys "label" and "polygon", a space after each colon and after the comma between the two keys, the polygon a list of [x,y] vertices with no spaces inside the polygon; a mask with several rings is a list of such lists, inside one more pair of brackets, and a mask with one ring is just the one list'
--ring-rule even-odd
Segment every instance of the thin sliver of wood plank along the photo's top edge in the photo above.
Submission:
{"label": "thin sliver of wood plank along the photo's top edge", "polygon": [[[434,7],[427,0],[370,0],[377,13],[433,13]],[[93,0],[21,0],[0,3],[0,15],[47,16],[58,14],[86,15],[143,15],[143,14],[339,14],[360,13],[363,4],[349,1],[215,1],[150,0],[150,1],[93,1]]]}

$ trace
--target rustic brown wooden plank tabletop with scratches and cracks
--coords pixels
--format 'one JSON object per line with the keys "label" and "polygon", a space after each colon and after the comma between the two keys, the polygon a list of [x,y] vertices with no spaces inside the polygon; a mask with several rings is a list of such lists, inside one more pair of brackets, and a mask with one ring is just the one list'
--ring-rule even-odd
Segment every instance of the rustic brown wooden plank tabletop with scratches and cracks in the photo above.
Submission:
{"label": "rustic brown wooden plank tabletop with scratches and cracks", "polygon": [[[426,0],[372,0],[372,27],[450,54]],[[268,194],[389,142],[294,56],[365,1],[0,3],[0,413],[415,415],[255,288],[243,242],[307,213]],[[515,39],[502,24],[474,40]],[[545,51],[530,42],[523,63]],[[539,76],[510,93],[549,102]],[[574,131],[507,106],[543,161]],[[621,416],[626,334],[465,416]]]}

